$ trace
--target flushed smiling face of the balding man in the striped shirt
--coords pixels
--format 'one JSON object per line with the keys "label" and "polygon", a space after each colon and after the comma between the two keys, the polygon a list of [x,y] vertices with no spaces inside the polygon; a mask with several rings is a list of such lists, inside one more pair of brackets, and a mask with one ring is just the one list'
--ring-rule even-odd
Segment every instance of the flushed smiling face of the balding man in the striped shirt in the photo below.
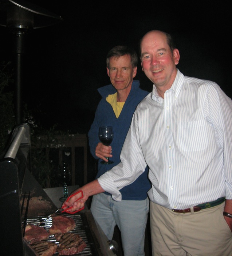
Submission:
{"label": "flushed smiling face of the balding man in the striped shirt", "polygon": [[145,75],[157,90],[168,90],[176,78],[180,54],[171,51],[166,35],[161,31],[148,32],[141,41],[141,65]]}

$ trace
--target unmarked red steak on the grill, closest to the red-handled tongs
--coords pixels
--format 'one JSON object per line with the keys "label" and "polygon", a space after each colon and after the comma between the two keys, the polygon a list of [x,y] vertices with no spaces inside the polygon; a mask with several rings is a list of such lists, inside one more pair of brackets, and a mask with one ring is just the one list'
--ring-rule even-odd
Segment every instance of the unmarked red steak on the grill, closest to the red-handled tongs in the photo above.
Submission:
{"label": "unmarked red steak on the grill, closest to the red-handled tongs", "polygon": [[75,221],[70,217],[58,215],[52,217],[52,226],[49,229],[50,234],[67,233],[75,228]]}

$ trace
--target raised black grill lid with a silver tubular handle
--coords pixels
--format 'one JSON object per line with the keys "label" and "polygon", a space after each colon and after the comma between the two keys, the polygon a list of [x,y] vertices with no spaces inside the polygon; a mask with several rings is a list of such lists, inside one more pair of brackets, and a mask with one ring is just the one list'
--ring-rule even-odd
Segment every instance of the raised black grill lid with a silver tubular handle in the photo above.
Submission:
{"label": "raised black grill lid with a silver tubular handle", "polygon": [[4,255],[24,255],[25,245],[21,230],[20,195],[24,172],[30,156],[30,128],[19,125],[13,131],[7,150],[0,160],[1,249]]}

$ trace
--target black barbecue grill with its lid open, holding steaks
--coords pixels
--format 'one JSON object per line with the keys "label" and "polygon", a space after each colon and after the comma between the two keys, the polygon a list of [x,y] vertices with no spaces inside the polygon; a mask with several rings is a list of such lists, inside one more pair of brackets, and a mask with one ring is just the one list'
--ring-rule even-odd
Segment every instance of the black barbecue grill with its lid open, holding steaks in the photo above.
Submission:
{"label": "black barbecue grill with its lid open, holding steaks", "polygon": [[[45,229],[51,226],[47,215],[57,207],[31,174],[31,138],[28,124],[20,124],[14,129],[6,150],[0,155],[0,220],[1,254],[37,256],[38,254],[24,240],[27,223],[39,223]],[[76,255],[115,256],[116,248],[108,241],[101,227],[95,222],[90,210],[76,214],[64,213],[75,220],[76,227],[71,232],[79,234],[86,242],[86,248]],[[47,241],[54,241],[54,235]],[[58,252],[55,255],[59,255]]]}

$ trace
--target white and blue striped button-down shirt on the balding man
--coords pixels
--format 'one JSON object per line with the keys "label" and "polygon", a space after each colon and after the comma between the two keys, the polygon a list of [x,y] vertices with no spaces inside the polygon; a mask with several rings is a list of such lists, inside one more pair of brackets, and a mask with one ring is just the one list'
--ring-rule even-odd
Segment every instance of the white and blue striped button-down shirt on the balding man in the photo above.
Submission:
{"label": "white and blue striped button-down shirt on the balding man", "polygon": [[120,201],[119,189],[146,165],[149,197],[166,208],[232,199],[232,101],[216,83],[178,70],[164,99],[153,86],[135,110],[121,163],[98,181]]}

